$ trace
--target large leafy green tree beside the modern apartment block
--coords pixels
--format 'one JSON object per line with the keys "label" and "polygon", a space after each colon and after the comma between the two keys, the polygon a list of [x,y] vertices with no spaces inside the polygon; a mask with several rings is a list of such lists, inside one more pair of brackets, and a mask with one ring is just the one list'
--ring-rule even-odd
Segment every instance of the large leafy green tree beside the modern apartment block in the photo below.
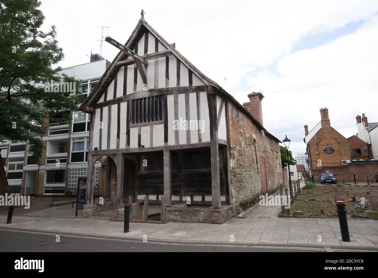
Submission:
{"label": "large leafy green tree beside the modern apartment block", "polygon": [[[55,112],[77,109],[79,104],[71,92],[62,92],[62,86],[46,90],[45,84],[72,82],[77,89],[80,82],[59,75],[62,68],[53,68],[64,54],[55,26],[48,32],[40,30],[45,19],[40,5],[35,0],[0,0],[0,139],[28,142],[36,160],[44,148],[36,137],[45,132],[43,119],[58,121]],[[70,113],[59,119],[69,120]],[[9,186],[0,156],[0,194],[6,192]]]}

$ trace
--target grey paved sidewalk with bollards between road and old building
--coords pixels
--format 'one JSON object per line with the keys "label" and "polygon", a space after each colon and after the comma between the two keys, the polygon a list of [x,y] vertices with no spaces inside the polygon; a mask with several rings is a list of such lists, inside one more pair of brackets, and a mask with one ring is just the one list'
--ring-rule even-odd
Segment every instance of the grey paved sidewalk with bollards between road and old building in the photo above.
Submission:
{"label": "grey paved sidewalk with bollards between road and old building", "polygon": [[105,219],[14,216],[11,224],[0,215],[0,229],[47,231],[55,234],[167,240],[186,242],[227,242],[228,244],[283,244],[369,247],[378,251],[378,221],[348,219],[350,242],[341,240],[337,218],[280,218],[279,206],[258,204],[239,217],[218,224],[130,223],[130,232],[123,233],[123,222]]}

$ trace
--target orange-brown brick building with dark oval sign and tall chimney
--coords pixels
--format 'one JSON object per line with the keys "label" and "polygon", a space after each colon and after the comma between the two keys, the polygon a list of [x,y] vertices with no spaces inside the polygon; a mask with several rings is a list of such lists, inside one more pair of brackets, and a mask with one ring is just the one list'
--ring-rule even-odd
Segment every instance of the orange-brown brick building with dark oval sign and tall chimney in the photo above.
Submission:
{"label": "orange-brown brick building with dark oval sign and tall chimney", "polygon": [[378,161],[371,160],[370,145],[355,135],[345,138],[334,129],[326,107],[320,109],[320,115],[321,122],[310,132],[308,126],[304,126],[310,174],[316,177],[329,171],[335,175],[345,175],[346,181],[353,181],[352,174],[356,175],[358,181],[366,180],[366,175],[375,174]]}

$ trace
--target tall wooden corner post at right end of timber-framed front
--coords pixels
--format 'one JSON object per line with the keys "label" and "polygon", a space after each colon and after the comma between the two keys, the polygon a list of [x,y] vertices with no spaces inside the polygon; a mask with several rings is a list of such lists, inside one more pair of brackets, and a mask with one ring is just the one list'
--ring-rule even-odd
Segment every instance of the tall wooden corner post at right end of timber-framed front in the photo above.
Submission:
{"label": "tall wooden corner post at right end of timber-framed front", "polygon": [[210,157],[211,157],[211,191],[212,208],[220,208],[220,177],[217,124],[217,96],[207,92],[210,120]]}

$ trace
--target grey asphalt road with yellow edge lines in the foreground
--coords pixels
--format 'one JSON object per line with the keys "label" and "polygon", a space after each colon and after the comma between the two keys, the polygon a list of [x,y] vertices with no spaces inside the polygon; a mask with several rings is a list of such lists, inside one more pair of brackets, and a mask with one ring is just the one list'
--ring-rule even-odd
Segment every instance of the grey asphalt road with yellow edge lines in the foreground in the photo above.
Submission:
{"label": "grey asphalt road with yellow edge lines in the foreground", "polygon": [[[56,242],[56,236],[60,242]],[[0,252],[340,252],[377,251],[376,248],[268,245],[217,242],[172,242],[107,236],[56,234],[0,228]]]}

